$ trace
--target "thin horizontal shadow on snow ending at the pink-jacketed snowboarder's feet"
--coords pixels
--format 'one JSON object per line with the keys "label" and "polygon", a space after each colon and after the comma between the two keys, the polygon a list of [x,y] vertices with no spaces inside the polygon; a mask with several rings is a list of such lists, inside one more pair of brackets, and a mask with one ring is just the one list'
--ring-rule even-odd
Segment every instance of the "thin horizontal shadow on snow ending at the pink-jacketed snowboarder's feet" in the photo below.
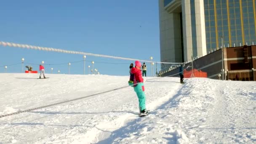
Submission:
{"label": "thin horizontal shadow on snow ending at the pink-jacketed snowboarder's feet", "polygon": [[132,112],[132,111],[109,111],[109,112],[47,112],[47,111],[37,111],[37,112],[31,112],[31,113],[40,113],[40,114],[106,114],[106,113],[131,113],[134,115],[139,115],[138,112]]}

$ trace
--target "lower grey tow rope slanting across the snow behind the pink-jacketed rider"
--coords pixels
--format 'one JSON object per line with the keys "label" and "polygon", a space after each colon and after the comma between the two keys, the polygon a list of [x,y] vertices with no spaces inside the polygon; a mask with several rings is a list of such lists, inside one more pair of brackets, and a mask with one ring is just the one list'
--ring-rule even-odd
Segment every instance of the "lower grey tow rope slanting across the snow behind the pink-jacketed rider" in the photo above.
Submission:
{"label": "lower grey tow rope slanting across the snow behind the pink-jacketed rider", "polygon": [[[181,73],[181,72],[179,72],[179,73]],[[177,75],[177,74],[179,74],[179,73],[176,73],[176,74],[173,74],[173,75]],[[168,75],[168,76],[165,76],[165,77],[171,77],[171,76],[173,76],[173,75]],[[152,78],[152,79],[149,79],[149,80],[155,80],[155,79],[160,79],[160,78],[163,78],[163,77]],[[133,84],[133,85],[137,85],[137,84],[139,84],[139,83],[136,83],[136,84]],[[89,96],[83,96],[83,97],[80,97],[80,98],[77,98],[77,99],[71,99],[71,100],[67,100],[67,101],[61,101],[61,102],[58,102],[58,103],[49,104],[49,105],[45,105],[45,106],[42,106],[42,107],[36,107],[36,108],[32,108],[32,109],[26,109],[26,110],[21,110],[21,111],[18,111],[18,112],[13,112],[13,113],[6,114],[6,115],[0,115],[0,118],[1,118],[1,117],[11,116],[11,115],[17,115],[17,114],[24,113],[24,112],[30,112],[30,111],[37,110],[37,109],[42,109],[42,108],[45,108],[45,107],[51,107],[51,106],[55,106],[55,105],[67,103],[67,102],[70,102],[70,101],[76,101],[76,100],[88,98],[88,97],[91,97],[91,96],[96,96],[96,95],[99,95],[99,94],[108,93],[108,92],[111,92],[111,91],[116,91],[116,90],[119,90],[119,89],[122,89],[122,88],[127,88],[127,87],[130,87],[130,86],[132,86],[132,85],[127,85],[127,86],[123,86],[123,87],[120,87],[120,88],[115,88],[115,89],[112,89],[112,90],[109,90],[109,91],[104,91],[104,92],[100,92],[100,93],[95,93],[95,94],[92,94],[92,95],[89,95]]]}

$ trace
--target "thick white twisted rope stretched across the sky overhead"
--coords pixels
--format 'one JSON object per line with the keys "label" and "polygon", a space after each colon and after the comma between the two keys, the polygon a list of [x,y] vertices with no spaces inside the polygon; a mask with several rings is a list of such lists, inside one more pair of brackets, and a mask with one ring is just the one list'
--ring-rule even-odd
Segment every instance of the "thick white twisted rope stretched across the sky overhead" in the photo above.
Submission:
{"label": "thick white twisted rope stretched across the sky overhead", "polygon": [[144,61],[144,62],[154,62],[159,64],[186,64],[186,63],[171,63],[171,62],[159,62],[159,61],[148,61],[148,60],[141,60],[141,59],[131,59],[131,58],[124,58],[119,56],[109,56],[109,55],[103,55],[103,54],[94,54],[94,53],[85,53],[80,51],[67,51],[63,49],[57,49],[57,48],[47,48],[47,47],[39,47],[39,46],[33,46],[33,45],[24,45],[24,44],[18,44],[18,43],[9,43],[9,42],[3,42],[0,41],[0,45],[3,46],[9,46],[9,47],[15,47],[15,48],[27,48],[27,49],[35,49],[35,50],[42,50],[42,51],[53,51],[53,52],[60,52],[60,53],[69,53],[69,54],[82,54],[87,56],[98,56],[98,57],[106,57],[106,58],[112,58],[112,59],[123,59],[123,60],[131,60],[131,61]]}

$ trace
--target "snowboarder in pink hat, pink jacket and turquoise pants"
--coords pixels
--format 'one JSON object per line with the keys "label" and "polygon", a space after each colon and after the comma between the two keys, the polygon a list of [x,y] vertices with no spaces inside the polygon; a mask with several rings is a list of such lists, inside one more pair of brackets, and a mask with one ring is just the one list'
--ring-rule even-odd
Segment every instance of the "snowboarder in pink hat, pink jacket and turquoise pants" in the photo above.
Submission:
{"label": "snowboarder in pink hat, pink jacket and turquoise pants", "polygon": [[148,114],[148,110],[146,109],[145,89],[143,85],[143,78],[141,77],[141,63],[139,61],[135,61],[135,67],[131,69],[131,73],[134,74],[133,89],[139,99],[140,117],[144,117]]}

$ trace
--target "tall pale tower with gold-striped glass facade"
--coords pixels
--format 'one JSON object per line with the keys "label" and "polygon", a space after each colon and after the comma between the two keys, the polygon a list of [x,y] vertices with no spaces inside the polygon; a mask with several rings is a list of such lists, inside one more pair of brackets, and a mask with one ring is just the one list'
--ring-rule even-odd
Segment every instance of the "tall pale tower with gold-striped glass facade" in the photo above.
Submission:
{"label": "tall pale tower with gold-striped glass facade", "polygon": [[159,0],[161,61],[256,45],[256,0]]}

